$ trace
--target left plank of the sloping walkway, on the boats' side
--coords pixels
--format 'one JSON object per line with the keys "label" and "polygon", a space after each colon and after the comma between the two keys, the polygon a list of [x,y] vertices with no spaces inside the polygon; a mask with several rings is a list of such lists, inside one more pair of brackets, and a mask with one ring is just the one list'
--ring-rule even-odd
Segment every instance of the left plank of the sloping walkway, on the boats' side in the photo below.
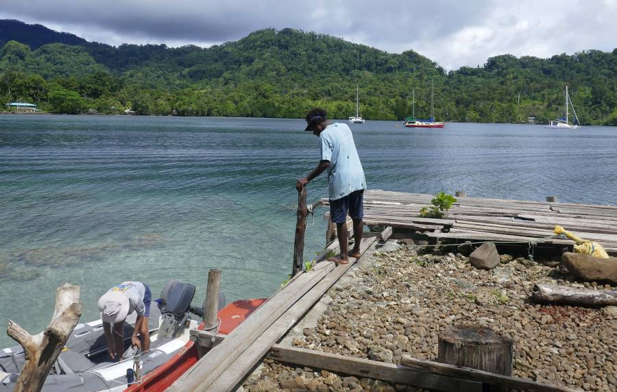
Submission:
{"label": "left plank of the sloping walkway, on the boats' side", "polygon": [[298,279],[264,302],[250,317],[231,332],[227,339],[200,358],[191,371],[174,382],[169,391],[204,391],[225,371],[269,326],[304,294],[320,282],[334,266],[301,272]]}

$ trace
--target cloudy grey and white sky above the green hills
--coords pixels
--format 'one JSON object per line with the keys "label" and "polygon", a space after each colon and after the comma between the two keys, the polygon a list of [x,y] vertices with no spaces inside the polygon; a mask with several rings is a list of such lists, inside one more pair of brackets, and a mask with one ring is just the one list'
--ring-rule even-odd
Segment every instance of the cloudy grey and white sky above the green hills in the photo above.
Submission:
{"label": "cloudy grey and white sky above the green hills", "polygon": [[617,0],[1,0],[0,19],[86,40],[210,46],[266,27],[337,36],[445,69],[617,47]]}

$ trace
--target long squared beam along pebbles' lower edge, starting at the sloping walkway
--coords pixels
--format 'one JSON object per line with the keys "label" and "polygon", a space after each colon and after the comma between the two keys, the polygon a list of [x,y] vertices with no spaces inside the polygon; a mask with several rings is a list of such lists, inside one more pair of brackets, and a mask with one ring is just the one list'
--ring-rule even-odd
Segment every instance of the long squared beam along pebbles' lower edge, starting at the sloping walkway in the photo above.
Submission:
{"label": "long squared beam along pebbles' lower edge, starting at the sloping walkway", "polygon": [[384,363],[377,360],[354,358],[352,356],[330,354],[298,347],[274,345],[268,354],[268,358],[315,369],[326,369],[337,373],[374,378],[394,382],[395,384],[413,385],[436,391],[482,391],[482,384],[479,382],[437,376],[423,369],[412,369],[407,366],[394,365],[394,363]]}

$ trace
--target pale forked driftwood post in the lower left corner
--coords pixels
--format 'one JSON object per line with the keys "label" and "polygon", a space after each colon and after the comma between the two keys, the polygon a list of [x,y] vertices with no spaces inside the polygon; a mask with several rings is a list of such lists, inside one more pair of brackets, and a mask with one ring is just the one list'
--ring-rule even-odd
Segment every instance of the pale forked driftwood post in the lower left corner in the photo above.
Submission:
{"label": "pale forked driftwood post in the lower left corner", "polygon": [[62,347],[82,315],[80,286],[65,283],[56,289],[56,307],[49,326],[32,336],[9,320],[6,333],[23,347],[25,363],[13,392],[38,392]]}

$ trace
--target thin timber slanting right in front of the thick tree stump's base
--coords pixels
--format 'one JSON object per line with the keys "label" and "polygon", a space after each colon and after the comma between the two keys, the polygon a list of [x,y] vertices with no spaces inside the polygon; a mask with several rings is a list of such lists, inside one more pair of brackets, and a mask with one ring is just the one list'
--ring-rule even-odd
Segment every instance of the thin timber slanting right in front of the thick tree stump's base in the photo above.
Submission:
{"label": "thin timber slanting right in front of the thick tree stump's base", "polygon": [[422,360],[411,358],[409,355],[403,355],[400,359],[401,365],[414,367],[419,366],[428,369],[436,374],[444,376],[463,378],[465,380],[474,380],[485,382],[487,384],[498,385],[518,391],[526,392],[579,392],[574,389],[560,387],[558,385],[541,384],[525,378],[512,376],[503,376],[503,374],[489,373],[488,371],[472,369],[470,367],[461,367],[455,365],[447,365],[445,363],[432,362],[430,360]]}

